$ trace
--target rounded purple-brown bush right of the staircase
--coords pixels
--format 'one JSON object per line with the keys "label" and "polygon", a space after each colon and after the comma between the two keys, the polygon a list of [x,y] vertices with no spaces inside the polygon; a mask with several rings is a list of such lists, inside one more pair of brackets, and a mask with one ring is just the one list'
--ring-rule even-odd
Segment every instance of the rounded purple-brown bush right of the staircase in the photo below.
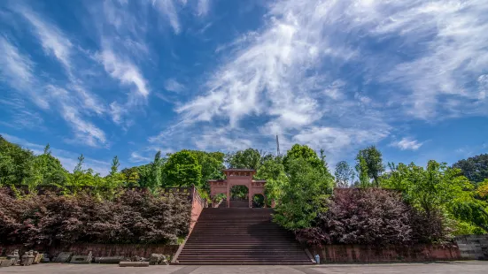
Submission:
{"label": "rounded purple-brown bush right of the staircase", "polygon": [[[317,225],[296,232],[309,244],[405,245],[443,240],[438,231],[422,228],[422,215],[402,201],[400,194],[379,188],[337,189],[329,199],[329,209],[319,215]],[[436,220],[432,220],[436,223]],[[438,222],[436,223],[438,224]]]}

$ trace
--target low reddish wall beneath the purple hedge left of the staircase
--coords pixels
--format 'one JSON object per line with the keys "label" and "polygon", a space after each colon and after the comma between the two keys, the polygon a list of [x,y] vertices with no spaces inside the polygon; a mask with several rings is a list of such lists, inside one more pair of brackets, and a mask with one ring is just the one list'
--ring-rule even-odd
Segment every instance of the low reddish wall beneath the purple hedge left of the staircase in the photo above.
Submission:
{"label": "low reddish wall beneath the purple hedge left of the staircase", "polygon": [[141,257],[150,257],[152,253],[159,253],[164,255],[174,255],[178,250],[177,245],[112,245],[112,244],[74,244],[64,247],[34,247],[27,248],[23,246],[0,246],[0,255],[11,254],[14,249],[19,249],[19,254],[33,249],[39,252],[47,252],[51,256],[57,256],[60,252],[73,252],[74,255],[88,255],[91,251],[94,257],[105,256],[125,256],[131,257],[138,255]]}

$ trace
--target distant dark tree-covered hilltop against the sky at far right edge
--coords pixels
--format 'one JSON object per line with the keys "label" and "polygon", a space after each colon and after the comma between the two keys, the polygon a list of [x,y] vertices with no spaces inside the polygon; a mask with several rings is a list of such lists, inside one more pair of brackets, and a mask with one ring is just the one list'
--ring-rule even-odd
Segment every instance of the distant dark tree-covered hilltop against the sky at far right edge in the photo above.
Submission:
{"label": "distant dark tree-covered hilltop against the sky at far right edge", "polygon": [[460,169],[462,175],[473,183],[488,179],[488,154],[469,157],[453,164],[453,168]]}

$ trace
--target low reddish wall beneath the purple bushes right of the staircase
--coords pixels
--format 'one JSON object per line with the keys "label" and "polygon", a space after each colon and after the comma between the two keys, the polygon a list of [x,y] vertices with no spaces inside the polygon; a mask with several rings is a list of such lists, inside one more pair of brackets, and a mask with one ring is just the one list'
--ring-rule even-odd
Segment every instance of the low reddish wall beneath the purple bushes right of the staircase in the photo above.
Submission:
{"label": "low reddish wall beneath the purple bushes right of the staircase", "polygon": [[370,247],[361,245],[325,245],[310,247],[320,255],[321,263],[383,263],[460,260],[455,245],[415,245],[412,247]]}

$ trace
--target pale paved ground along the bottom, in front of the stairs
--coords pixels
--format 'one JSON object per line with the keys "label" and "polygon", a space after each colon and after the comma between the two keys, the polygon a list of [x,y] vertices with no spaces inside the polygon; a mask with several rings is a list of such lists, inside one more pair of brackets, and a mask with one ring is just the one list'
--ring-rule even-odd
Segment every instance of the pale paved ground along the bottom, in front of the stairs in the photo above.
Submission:
{"label": "pale paved ground along the bottom, in front of the stairs", "polygon": [[38,274],[321,274],[321,273],[488,273],[488,262],[439,262],[439,263],[381,263],[381,264],[326,264],[320,266],[150,266],[124,267],[113,264],[61,264],[47,263],[31,266],[0,268],[0,273]]}

